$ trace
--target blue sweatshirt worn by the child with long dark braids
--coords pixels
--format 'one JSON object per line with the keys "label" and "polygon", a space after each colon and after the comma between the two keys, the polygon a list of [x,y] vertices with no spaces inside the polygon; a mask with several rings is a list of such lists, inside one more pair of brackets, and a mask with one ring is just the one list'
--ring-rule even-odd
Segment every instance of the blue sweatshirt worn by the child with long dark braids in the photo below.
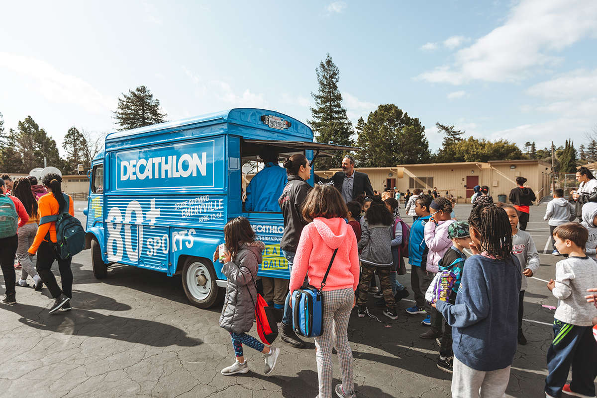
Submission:
{"label": "blue sweatshirt worn by the child with long dark braids", "polygon": [[518,344],[521,266],[511,260],[469,257],[464,262],[456,303],[436,301],[452,327],[454,356],[478,371],[512,365]]}

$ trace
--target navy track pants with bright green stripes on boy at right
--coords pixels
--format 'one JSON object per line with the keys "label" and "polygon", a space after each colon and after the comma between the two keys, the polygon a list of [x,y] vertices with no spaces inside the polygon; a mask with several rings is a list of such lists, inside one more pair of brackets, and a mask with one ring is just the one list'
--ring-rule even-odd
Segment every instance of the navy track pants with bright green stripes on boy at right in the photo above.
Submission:
{"label": "navy track pants with bright green stripes on boy at right", "polygon": [[552,345],[547,349],[545,392],[552,397],[562,395],[568,371],[572,366],[570,390],[587,396],[595,395],[593,380],[597,376],[597,343],[590,326],[576,326],[553,320]]}

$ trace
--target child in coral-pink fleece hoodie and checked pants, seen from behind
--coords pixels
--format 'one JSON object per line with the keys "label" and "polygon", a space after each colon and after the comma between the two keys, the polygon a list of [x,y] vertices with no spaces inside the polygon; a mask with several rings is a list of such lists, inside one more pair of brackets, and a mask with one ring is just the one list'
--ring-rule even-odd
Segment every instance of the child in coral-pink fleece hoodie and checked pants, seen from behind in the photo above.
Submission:
{"label": "child in coral-pink fleece hoodie and checked pants, seen from behind", "polygon": [[346,204],[336,188],[315,185],[303,204],[303,217],[310,223],[301,232],[290,275],[290,291],[303,285],[305,275],[309,277],[310,285],[319,288],[334,250],[338,249],[322,287],[323,333],[315,337],[319,398],[331,398],[334,347],[342,369],[342,383],[336,385],[336,394],[346,397],[355,391],[348,320],[355,306],[355,290],[359,283],[359,254],[355,232],[344,220],[347,214]]}

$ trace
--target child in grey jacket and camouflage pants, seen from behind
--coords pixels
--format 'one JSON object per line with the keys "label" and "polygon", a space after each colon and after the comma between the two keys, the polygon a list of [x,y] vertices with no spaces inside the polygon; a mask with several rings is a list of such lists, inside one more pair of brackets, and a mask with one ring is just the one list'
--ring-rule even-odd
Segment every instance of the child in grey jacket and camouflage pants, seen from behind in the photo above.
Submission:
{"label": "child in grey jacket and camouflage pants, seen from behind", "polygon": [[361,251],[361,279],[359,281],[358,316],[363,318],[368,314],[367,293],[371,278],[377,271],[380,279],[386,309],[383,313],[391,319],[398,318],[396,313],[396,299],[392,293],[390,272],[394,263],[392,256],[392,213],[387,210],[383,202],[373,201],[367,209],[365,217],[361,219],[361,240],[358,248]]}

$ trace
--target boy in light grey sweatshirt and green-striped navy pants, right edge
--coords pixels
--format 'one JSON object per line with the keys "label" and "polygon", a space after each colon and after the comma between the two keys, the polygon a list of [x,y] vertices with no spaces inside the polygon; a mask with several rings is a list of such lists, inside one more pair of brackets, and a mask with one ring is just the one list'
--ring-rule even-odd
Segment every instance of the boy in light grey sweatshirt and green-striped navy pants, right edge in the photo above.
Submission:
{"label": "boy in light grey sweatshirt and green-striped navy pants, right edge", "polygon": [[[553,231],[556,248],[568,258],[556,264],[556,279],[547,288],[558,298],[553,315],[553,342],[547,350],[546,397],[560,397],[562,391],[578,397],[595,396],[597,341],[593,318],[597,307],[587,303],[586,291],[597,285],[597,263],[586,256],[586,228],[577,223],[559,225]],[[572,380],[565,384],[572,366]]]}

